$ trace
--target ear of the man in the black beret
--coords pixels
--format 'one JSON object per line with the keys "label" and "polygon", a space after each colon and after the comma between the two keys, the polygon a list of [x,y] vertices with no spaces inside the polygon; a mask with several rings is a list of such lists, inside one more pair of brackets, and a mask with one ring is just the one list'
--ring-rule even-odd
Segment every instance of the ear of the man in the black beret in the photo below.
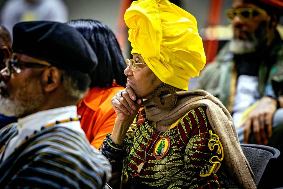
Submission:
{"label": "ear of the man in the black beret", "polygon": [[51,67],[43,71],[42,86],[45,92],[55,91],[61,84],[61,73],[56,67]]}

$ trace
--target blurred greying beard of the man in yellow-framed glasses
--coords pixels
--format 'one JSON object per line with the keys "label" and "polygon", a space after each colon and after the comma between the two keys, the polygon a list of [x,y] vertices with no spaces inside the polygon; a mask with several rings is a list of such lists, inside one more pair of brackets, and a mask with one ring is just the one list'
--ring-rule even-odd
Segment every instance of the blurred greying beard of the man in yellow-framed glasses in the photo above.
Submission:
{"label": "blurred greying beard of the man in yellow-framed glasses", "polygon": [[246,53],[254,53],[258,47],[257,40],[240,40],[240,39],[232,39],[229,43],[229,50],[234,54],[246,54]]}

